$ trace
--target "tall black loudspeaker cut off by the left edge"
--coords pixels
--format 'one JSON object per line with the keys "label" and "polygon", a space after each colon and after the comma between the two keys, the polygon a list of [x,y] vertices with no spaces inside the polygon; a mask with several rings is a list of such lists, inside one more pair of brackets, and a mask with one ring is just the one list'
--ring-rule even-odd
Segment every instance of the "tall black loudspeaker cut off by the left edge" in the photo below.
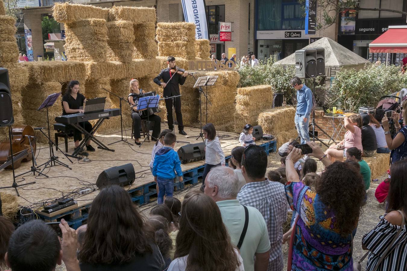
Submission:
{"label": "tall black loudspeaker cut off by the left edge", "polygon": [[10,126],[13,123],[9,71],[0,68],[0,127]]}

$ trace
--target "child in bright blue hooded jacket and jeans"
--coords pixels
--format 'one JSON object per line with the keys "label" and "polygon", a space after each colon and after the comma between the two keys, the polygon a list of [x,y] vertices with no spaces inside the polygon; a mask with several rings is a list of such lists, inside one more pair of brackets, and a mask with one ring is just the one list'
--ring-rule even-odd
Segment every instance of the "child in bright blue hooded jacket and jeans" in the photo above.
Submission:
{"label": "child in bright blue hooded jacket and jeans", "polygon": [[157,203],[164,203],[164,195],[172,197],[174,192],[174,178],[177,171],[179,181],[182,182],[181,161],[177,152],[174,150],[177,136],[173,133],[167,133],[164,136],[164,147],[155,154],[153,163],[154,181],[158,184]]}

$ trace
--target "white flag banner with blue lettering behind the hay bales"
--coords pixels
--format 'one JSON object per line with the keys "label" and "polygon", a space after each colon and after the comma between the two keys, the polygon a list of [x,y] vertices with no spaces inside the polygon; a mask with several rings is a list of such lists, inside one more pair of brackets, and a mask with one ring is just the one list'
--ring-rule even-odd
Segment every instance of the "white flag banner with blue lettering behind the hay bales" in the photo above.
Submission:
{"label": "white flag banner with blue lettering behind the hay bales", "polygon": [[204,0],[182,0],[185,22],[194,23],[196,39],[209,39]]}

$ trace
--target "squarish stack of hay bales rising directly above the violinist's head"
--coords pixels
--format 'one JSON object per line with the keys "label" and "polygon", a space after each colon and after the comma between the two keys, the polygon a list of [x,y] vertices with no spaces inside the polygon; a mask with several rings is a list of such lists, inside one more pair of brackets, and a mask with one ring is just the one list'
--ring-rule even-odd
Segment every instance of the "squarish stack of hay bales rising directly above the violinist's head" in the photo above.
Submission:
{"label": "squarish stack of hay bales rising directly above the violinist's head", "polygon": [[195,24],[194,23],[158,23],[158,54],[175,56],[182,59],[195,59]]}

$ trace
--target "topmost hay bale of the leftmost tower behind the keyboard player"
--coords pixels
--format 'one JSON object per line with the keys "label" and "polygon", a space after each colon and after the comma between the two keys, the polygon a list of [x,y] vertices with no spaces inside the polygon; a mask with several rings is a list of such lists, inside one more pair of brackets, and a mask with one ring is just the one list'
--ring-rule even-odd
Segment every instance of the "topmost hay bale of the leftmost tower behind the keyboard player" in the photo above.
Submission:
{"label": "topmost hay bale of the leftmost tower behind the keyboard player", "polygon": [[90,18],[107,20],[108,15],[109,9],[102,9],[93,5],[55,2],[53,7],[54,19],[64,24]]}

